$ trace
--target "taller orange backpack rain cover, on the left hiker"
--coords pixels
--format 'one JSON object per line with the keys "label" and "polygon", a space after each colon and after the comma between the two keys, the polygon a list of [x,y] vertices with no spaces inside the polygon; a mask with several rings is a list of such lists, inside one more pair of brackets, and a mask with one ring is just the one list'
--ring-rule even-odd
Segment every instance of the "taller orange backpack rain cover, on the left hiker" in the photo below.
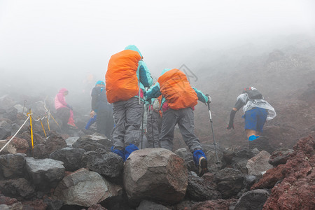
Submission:
{"label": "taller orange backpack rain cover, on the left hiker", "polygon": [[139,52],[123,50],[111,56],[105,75],[109,103],[127,101],[139,92],[137,69]]}

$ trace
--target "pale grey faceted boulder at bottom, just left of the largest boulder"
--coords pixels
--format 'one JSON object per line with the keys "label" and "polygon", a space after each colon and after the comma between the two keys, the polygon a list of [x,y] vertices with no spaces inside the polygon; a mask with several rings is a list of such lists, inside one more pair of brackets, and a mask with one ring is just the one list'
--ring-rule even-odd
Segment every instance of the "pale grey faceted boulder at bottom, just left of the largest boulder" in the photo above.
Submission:
{"label": "pale grey faceted boulder at bottom, just left of the largest boulder", "polygon": [[79,169],[65,176],[55,189],[54,198],[67,205],[90,207],[122,194],[122,188],[96,172]]}

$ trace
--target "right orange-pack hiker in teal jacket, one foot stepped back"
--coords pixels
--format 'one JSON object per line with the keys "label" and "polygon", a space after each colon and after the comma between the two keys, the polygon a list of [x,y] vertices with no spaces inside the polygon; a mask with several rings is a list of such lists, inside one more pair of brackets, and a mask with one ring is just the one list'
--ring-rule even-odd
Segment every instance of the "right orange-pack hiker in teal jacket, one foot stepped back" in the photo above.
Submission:
{"label": "right orange-pack hiker in teal jacket, one foot stepped back", "polygon": [[179,69],[164,69],[158,78],[158,83],[146,92],[146,98],[156,98],[161,94],[163,116],[160,146],[172,151],[174,129],[178,124],[183,140],[193,153],[195,165],[199,168],[199,175],[202,176],[208,172],[208,164],[200,141],[195,135],[193,110],[198,99],[207,103],[209,98],[200,90],[191,87],[185,73]]}

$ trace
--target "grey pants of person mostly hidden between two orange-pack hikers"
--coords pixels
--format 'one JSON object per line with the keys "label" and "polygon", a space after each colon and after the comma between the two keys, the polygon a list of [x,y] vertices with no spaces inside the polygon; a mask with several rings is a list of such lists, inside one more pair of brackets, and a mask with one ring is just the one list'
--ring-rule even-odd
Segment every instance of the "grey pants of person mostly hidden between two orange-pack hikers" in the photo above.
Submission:
{"label": "grey pants of person mostly hidden between two orange-pack hikers", "polygon": [[[148,124],[146,125],[146,138],[148,139],[149,148],[160,147],[160,130],[159,130],[160,113],[149,110],[148,111]],[[154,144],[153,144],[154,141]]]}

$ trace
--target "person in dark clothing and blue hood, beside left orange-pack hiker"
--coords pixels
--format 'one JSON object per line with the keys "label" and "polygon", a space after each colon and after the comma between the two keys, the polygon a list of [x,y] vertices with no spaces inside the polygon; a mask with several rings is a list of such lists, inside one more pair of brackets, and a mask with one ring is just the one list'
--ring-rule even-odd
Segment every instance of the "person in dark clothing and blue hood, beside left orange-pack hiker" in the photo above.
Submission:
{"label": "person in dark clothing and blue hood, beside left orange-pack hiker", "polygon": [[91,96],[92,111],[90,112],[90,117],[91,119],[96,118],[94,120],[97,123],[97,132],[111,139],[111,131],[114,124],[113,106],[107,102],[105,83],[102,80],[97,81],[92,89]]}

